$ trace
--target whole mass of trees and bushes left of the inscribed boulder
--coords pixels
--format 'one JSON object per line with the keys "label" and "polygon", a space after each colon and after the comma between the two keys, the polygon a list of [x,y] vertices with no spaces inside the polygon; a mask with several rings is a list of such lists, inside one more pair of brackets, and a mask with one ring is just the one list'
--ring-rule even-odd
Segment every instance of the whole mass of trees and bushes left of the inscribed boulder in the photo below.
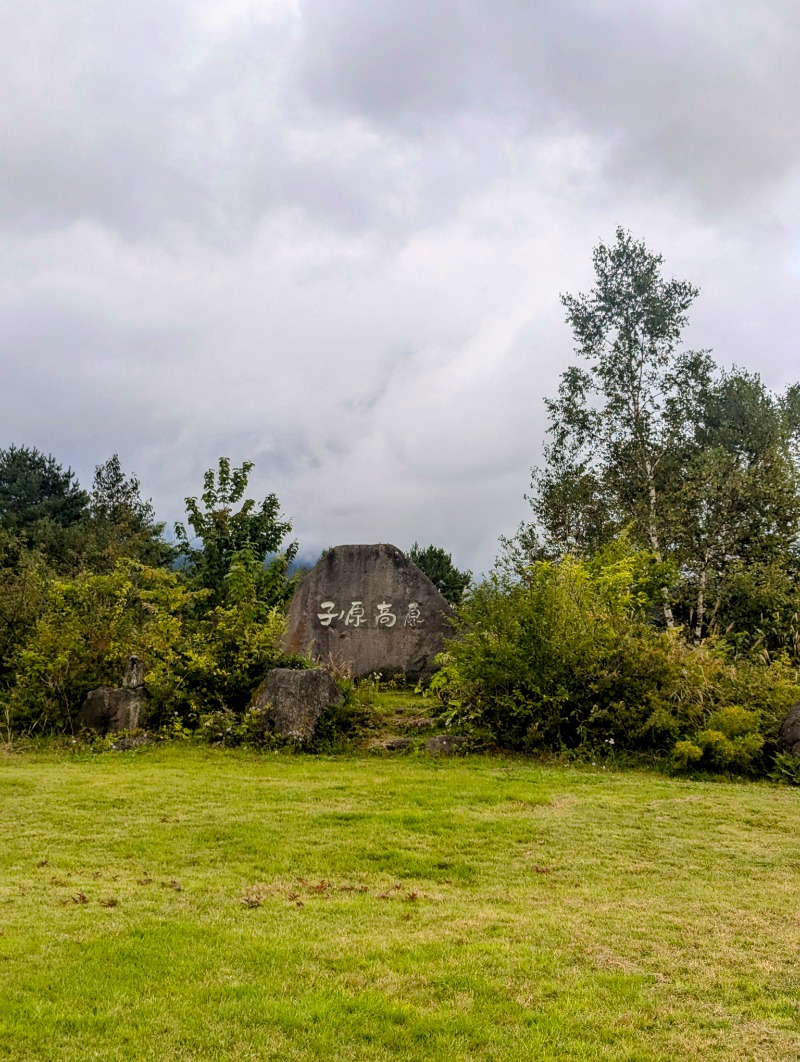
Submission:
{"label": "whole mass of trees and bushes left of the inscribed boulder", "polygon": [[[8,732],[72,732],[86,693],[146,662],[148,723],[243,713],[282,660],[290,525],[274,495],[245,499],[252,465],[206,474],[195,542],[164,525],[115,455],[90,495],[37,450],[0,452],[0,706]],[[241,503],[234,511],[233,506]],[[67,539],[56,532],[69,531]],[[177,559],[177,563],[176,562]]]}

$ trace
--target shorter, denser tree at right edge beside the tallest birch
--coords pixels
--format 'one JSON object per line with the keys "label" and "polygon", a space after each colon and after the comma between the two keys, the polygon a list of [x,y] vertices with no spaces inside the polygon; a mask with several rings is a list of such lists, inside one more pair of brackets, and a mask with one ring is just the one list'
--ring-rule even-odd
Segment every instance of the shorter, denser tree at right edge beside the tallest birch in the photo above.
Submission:
{"label": "shorter, denser tree at right edge beside the tallest birch", "polygon": [[670,458],[665,512],[695,640],[715,622],[753,630],[790,609],[800,468],[787,410],[758,375],[721,373],[693,436]]}

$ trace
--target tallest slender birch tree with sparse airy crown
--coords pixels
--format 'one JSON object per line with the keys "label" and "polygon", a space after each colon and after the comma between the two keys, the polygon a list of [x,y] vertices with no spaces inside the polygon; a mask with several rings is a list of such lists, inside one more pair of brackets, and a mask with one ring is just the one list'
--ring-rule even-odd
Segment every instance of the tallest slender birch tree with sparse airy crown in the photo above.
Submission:
{"label": "tallest slender birch tree with sparse airy crown", "polygon": [[[552,442],[533,472],[531,503],[550,554],[589,553],[632,525],[634,539],[663,560],[665,459],[713,370],[704,352],[676,352],[698,292],[665,280],[661,255],[623,228],[593,261],[592,291],[561,296],[588,364],[567,369],[546,402]],[[673,626],[666,588],[663,612]]]}

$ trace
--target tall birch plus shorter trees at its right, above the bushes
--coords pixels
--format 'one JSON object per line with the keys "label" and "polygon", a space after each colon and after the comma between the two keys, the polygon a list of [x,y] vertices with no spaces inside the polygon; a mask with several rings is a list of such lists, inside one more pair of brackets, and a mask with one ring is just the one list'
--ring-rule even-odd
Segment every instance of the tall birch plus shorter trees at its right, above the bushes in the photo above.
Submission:
{"label": "tall birch plus shorter trees at its right, above the bushes", "polygon": [[736,619],[758,618],[745,571],[755,592],[763,568],[763,596],[779,570],[797,568],[800,392],[779,398],[758,376],[721,373],[708,352],[679,350],[697,289],[664,279],[662,261],[618,228],[594,252],[592,291],[562,296],[585,365],[567,369],[547,400],[535,527],[514,545],[588,556],[628,529],[678,577],[664,586],[667,626],[691,624],[699,640],[728,626],[736,581]]}

